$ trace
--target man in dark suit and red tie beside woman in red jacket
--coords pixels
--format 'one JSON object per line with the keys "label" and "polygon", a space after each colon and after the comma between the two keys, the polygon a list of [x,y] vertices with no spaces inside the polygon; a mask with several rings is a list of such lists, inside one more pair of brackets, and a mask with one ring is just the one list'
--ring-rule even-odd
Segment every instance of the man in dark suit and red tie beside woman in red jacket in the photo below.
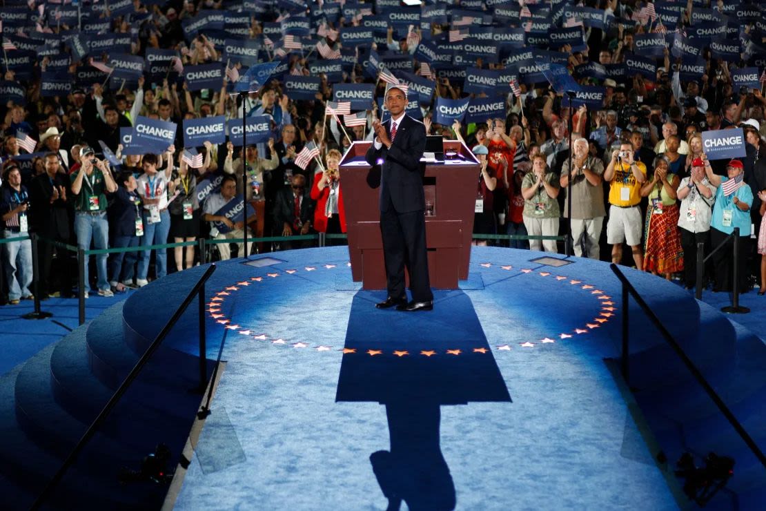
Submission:
{"label": "man in dark suit and red tie beside woman in red jacket", "polygon": [[[274,234],[276,236],[297,236],[309,234],[311,221],[314,218],[314,201],[311,200],[306,190],[306,178],[303,175],[293,175],[290,188],[282,188],[277,192],[274,204]],[[291,248],[306,248],[309,241],[296,243],[293,246],[290,241],[284,241],[282,250]]]}

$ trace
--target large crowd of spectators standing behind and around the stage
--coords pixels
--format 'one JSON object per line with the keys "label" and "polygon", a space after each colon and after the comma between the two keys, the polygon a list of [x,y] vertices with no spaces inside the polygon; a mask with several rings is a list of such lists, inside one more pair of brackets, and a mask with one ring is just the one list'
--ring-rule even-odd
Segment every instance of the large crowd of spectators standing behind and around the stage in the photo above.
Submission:
{"label": "large crowd of spectators standing behind and around the stage", "polygon": [[[709,254],[731,244],[728,234],[739,228],[740,290],[758,282],[759,294],[766,291],[766,223],[761,221],[766,208],[766,147],[761,147],[766,97],[757,87],[735,88],[737,70],[766,56],[761,50],[764,33],[755,21],[741,21],[744,35],[740,32],[738,38],[726,30],[717,32],[741,43],[738,59],[715,54],[708,38],[699,55],[704,74],[689,77],[679,70],[686,57],[674,51],[673,34],[686,41],[702,22],[730,26],[731,12],[722,2],[676,4],[676,25],[663,22],[663,12],[653,4],[635,0],[423,2],[414,8],[396,3],[326,1],[306,8],[295,2],[134,2],[119,15],[106,5],[104,11],[85,3],[86,14],[73,20],[57,13],[61,7],[31,0],[23,24],[6,19],[2,25],[5,81],[0,93],[17,91],[0,105],[0,215],[3,236],[13,240],[2,244],[2,295],[10,303],[31,298],[31,244],[15,239],[29,231],[43,240],[101,249],[198,237],[253,237],[250,225],[258,221],[264,234],[286,238],[265,244],[265,250],[310,244],[304,238],[290,240],[301,234],[345,232],[343,201],[354,198],[342,195],[342,153],[354,141],[372,140],[373,123],[386,117],[375,100],[383,97],[387,82],[412,85],[412,76],[417,84],[433,87],[428,98],[422,93],[415,100],[408,96],[408,114],[422,118],[430,134],[463,140],[481,161],[476,190],[466,190],[481,199],[474,232],[529,235],[529,241],[497,243],[556,252],[561,242],[535,237],[565,234],[571,226],[575,255],[632,264],[669,279],[676,276],[692,287],[698,244],[704,243]],[[395,9],[420,14],[403,25],[390,16]],[[600,10],[603,16],[596,23],[577,9]],[[224,21],[211,21],[224,11]],[[309,28],[293,35],[295,28],[289,27],[301,20]],[[368,24],[370,20],[376,22]],[[150,51],[169,50],[175,55],[159,75],[145,69],[123,78],[112,76],[113,68],[94,78],[83,71],[102,70],[111,61],[103,50],[77,50],[72,38],[79,37],[77,29],[86,21],[106,21],[107,34],[129,35],[131,43],[123,53],[146,57]],[[541,44],[532,37],[538,24],[547,24],[548,32],[578,28],[582,44]],[[195,31],[190,28],[194,26],[202,28]],[[275,33],[275,27],[282,32]],[[345,33],[365,27],[372,27],[371,41],[343,42]],[[232,85],[254,62],[226,49],[229,39],[221,33],[227,31],[228,37],[255,41],[258,60],[285,64],[281,74],[257,92],[234,93]],[[486,41],[486,34],[512,31],[524,32],[525,44],[497,44],[497,54],[482,57],[461,50],[463,41]],[[654,61],[651,78],[625,65],[639,52],[637,38],[647,34],[663,34],[670,41],[662,54],[644,59]],[[30,57],[29,69],[9,65],[11,57],[29,54],[23,47],[33,41],[41,44],[41,51]],[[418,51],[421,45],[452,57],[445,63],[439,54]],[[51,48],[53,53],[42,51]],[[542,54],[540,60],[563,63],[580,84],[600,88],[603,100],[573,106],[546,81],[526,77],[512,55],[528,48]],[[371,74],[363,59],[373,50],[386,64]],[[57,57],[66,57],[68,64],[52,75],[52,65],[61,60]],[[311,99],[291,97],[286,77],[310,77],[313,64],[323,61],[340,61],[342,73],[332,79],[320,73]],[[182,69],[214,63],[225,70],[220,84],[190,90]],[[615,71],[586,76],[581,69],[590,64]],[[510,83],[494,89],[505,102],[502,113],[472,122],[466,120],[466,110],[448,118],[437,113],[440,99],[488,97],[465,91],[470,88],[466,68],[515,71]],[[68,93],[44,93],[44,78],[51,76],[69,80]],[[349,122],[356,116],[337,114],[342,100],[335,95],[336,84],[373,84],[372,104],[352,109],[366,116],[361,124]],[[243,115],[268,116],[267,141],[248,144],[244,154],[232,142],[183,147],[185,121]],[[176,123],[175,140],[164,152],[129,150],[121,130],[135,126],[139,116]],[[702,134],[736,128],[745,134],[744,156],[709,158]],[[227,206],[243,196],[260,208],[245,209],[239,217],[228,215]],[[624,244],[629,247],[625,254]],[[216,246],[218,257],[231,257],[229,244]],[[244,249],[238,244],[237,254]],[[247,247],[248,253],[252,250]],[[93,289],[112,296],[199,260],[193,244],[99,254],[87,273],[86,293]],[[69,251],[41,243],[41,298],[73,294],[77,271],[72,264]],[[705,269],[705,283],[731,290],[732,264],[729,247],[717,251]]]}

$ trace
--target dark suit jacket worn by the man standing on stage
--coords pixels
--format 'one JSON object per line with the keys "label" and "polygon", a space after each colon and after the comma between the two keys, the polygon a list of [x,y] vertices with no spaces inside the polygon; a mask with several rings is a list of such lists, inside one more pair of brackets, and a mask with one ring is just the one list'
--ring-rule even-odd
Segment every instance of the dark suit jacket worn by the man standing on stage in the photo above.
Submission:
{"label": "dark suit jacket worn by the man standing on stage", "polygon": [[[384,123],[386,133],[391,133],[391,120]],[[393,206],[397,213],[423,211],[425,195],[423,192],[424,166],[421,156],[426,148],[426,129],[423,123],[404,115],[397,126],[396,137],[391,149],[382,146],[375,150],[370,146],[365,159],[370,165],[376,165],[383,159],[381,166],[381,211],[388,211]]]}

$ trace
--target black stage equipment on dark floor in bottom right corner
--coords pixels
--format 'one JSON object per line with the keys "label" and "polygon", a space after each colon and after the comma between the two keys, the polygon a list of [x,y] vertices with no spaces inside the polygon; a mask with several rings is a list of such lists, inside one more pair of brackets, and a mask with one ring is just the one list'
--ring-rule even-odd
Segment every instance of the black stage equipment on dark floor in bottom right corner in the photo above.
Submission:
{"label": "black stage equipment on dark floor in bottom right corner", "polygon": [[704,507],[734,475],[735,460],[715,453],[705,457],[705,467],[697,467],[694,456],[684,453],[676,462],[676,477],[683,477],[683,491],[689,499]]}

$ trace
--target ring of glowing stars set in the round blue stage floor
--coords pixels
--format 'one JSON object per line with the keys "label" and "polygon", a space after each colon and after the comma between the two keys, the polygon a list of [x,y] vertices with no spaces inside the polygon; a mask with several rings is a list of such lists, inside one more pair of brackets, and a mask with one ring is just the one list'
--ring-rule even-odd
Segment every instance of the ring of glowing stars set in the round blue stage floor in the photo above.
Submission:
{"label": "ring of glowing stars set in the round blue stage floor", "polygon": [[[347,267],[351,266],[351,263],[346,262],[345,264]],[[550,336],[545,336],[543,339],[535,339],[535,340],[527,340],[525,342],[519,342],[518,347],[522,349],[532,349],[538,346],[542,346],[545,344],[555,344],[555,342],[564,340],[564,339],[573,339],[577,338],[579,336],[584,336],[588,334],[593,329],[600,328],[604,325],[604,323],[607,323],[610,319],[614,318],[615,314],[617,313],[617,308],[614,306],[615,303],[612,301],[611,296],[608,296],[604,291],[597,289],[595,286],[592,286],[591,284],[588,284],[584,282],[583,280],[577,280],[577,279],[570,279],[569,277],[566,277],[564,275],[556,275],[549,271],[539,271],[539,270],[531,270],[529,268],[521,268],[521,269],[514,269],[510,265],[502,265],[502,264],[492,264],[492,263],[480,263],[479,266],[483,268],[483,270],[499,270],[499,271],[507,271],[507,272],[519,272],[521,274],[527,274],[529,276],[536,276],[540,278],[550,278],[553,280],[556,280],[557,282],[561,283],[562,286],[568,287],[570,289],[580,290],[584,293],[588,293],[591,296],[594,297],[594,299],[597,301],[597,307],[598,312],[595,315],[593,319],[586,322],[583,326],[580,328],[575,328],[574,330],[571,330],[569,332],[556,332],[551,333]],[[489,349],[486,349],[484,347],[478,347],[473,349],[424,349],[420,351],[408,351],[408,350],[385,350],[385,349],[367,349],[365,351],[359,351],[356,348],[336,348],[335,346],[325,346],[325,345],[317,345],[314,346],[309,342],[303,342],[303,341],[296,341],[293,342],[290,339],[282,339],[270,336],[267,332],[259,332],[256,329],[250,328],[247,325],[238,325],[235,323],[232,323],[231,318],[226,316],[225,313],[221,312],[224,303],[227,301],[231,301],[232,298],[234,298],[234,295],[243,290],[247,289],[250,286],[258,286],[262,285],[263,283],[269,283],[272,281],[276,281],[280,277],[289,277],[290,275],[294,274],[300,274],[300,272],[310,272],[310,271],[329,271],[337,268],[337,264],[322,264],[318,266],[306,266],[303,268],[294,268],[290,270],[283,270],[281,273],[278,271],[270,272],[265,274],[264,276],[259,277],[250,277],[247,280],[237,280],[234,283],[231,283],[230,286],[224,287],[223,289],[219,290],[217,293],[214,293],[211,300],[206,304],[206,312],[208,313],[208,316],[211,317],[215,321],[215,323],[218,323],[218,325],[221,325],[221,328],[223,329],[229,329],[232,332],[236,332],[240,336],[247,336],[250,337],[250,339],[254,339],[256,341],[263,341],[263,342],[269,342],[273,346],[290,346],[293,349],[312,349],[316,352],[332,352],[332,351],[338,351],[342,352],[343,355],[367,355],[367,356],[393,356],[397,359],[402,359],[404,357],[412,357],[412,356],[422,356],[426,357],[427,359],[430,359],[431,357],[437,356],[437,355],[447,355],[447,356],[460,356],[460,355],[467,355],[469,353],[478,353],[478,354],[486,354],[489,352]],[[511,351],[511,349],[516,346],[512,346],[510,344],[502,344],[495,346],[494,349],[496,351]]]}

